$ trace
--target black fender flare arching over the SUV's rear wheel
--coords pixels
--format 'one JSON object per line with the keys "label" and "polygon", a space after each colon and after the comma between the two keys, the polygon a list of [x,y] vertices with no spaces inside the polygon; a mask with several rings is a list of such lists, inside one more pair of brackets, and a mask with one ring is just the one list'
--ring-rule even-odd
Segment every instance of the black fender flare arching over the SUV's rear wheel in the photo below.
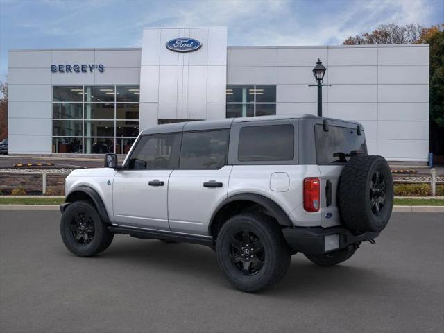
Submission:
{"label": "black fender flare arching over the SUV's rear wheel", "polygon": [[223,209],[223,207],[225,207],[225,205],[227,205],[228,203],[232,203],[234,201],[239,201],[239,200],[252,201],[253,203],[262,205],[263,207],[266,208],[266,210],[268,210],[268,212],[270,212],[270,215],[276,221],[278,221],[280,225],[285,227],[293,227],[293,223],[291,223],[291,220],[289,219],[287,213],[284,212],[282,207],[280,207],[280,205],[275,203],[273,200],[267,198],[266,196],[262,196],[261,194],[243,193],[243,194],[235,194],[234,196],[229,196],[216,207],[216,210],[214,210],[210,219],[210,223],[208,225],[209,234],[211,234],[212,232],[212,224],[219,211]]}

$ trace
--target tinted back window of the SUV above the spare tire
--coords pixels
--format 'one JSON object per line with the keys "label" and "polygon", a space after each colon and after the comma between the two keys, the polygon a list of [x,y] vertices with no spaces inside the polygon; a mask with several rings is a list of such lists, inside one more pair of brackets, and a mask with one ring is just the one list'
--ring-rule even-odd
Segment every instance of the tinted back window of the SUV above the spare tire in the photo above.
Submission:
{"label": "tinted back window of the SUV above the spare tire", "polygon": [[325,132],[322,125],[315,126],[316,160],[318,164],[346,162],[351,151],[361,150],[367,154],[364,131],[357,135],[357,130],[338,126],[329,126]]}

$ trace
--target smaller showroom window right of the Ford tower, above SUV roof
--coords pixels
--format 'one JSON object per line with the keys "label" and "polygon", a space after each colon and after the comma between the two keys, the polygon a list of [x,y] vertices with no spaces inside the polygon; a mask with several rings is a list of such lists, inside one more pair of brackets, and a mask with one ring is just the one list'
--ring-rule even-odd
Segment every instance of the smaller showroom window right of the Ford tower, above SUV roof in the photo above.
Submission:
{"label": "smaller showroom window right of the Ford tower, above SUV roof", "polygon": [[227,118],[276,114],[275,85],[228,85]]}

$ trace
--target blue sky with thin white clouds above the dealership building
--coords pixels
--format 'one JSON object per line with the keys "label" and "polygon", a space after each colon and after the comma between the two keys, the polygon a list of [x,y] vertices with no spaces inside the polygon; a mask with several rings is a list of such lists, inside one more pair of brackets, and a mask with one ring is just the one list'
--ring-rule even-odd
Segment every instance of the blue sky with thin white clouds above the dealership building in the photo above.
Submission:
{"label": "blue sky with thin white clouds above the dealership building", "polygon": [[443,0],[0,0],[0,80],[10,49],[139,47],[144,26],[228,26],[230,46],[323,45],[443,17]]}

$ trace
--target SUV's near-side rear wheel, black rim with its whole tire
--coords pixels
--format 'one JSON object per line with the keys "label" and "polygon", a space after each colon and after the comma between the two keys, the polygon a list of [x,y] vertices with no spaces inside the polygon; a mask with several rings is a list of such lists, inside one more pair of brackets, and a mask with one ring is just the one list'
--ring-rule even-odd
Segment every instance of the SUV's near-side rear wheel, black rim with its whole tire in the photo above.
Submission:
{"label": "SUV's near-side rear wheel, black rim with its whole tire", "polygon": [[259,212],[234,215],[223,223],[217,234],[216,257],[228,282],[248,293],[277,284],[291,259],[278,222]]}

